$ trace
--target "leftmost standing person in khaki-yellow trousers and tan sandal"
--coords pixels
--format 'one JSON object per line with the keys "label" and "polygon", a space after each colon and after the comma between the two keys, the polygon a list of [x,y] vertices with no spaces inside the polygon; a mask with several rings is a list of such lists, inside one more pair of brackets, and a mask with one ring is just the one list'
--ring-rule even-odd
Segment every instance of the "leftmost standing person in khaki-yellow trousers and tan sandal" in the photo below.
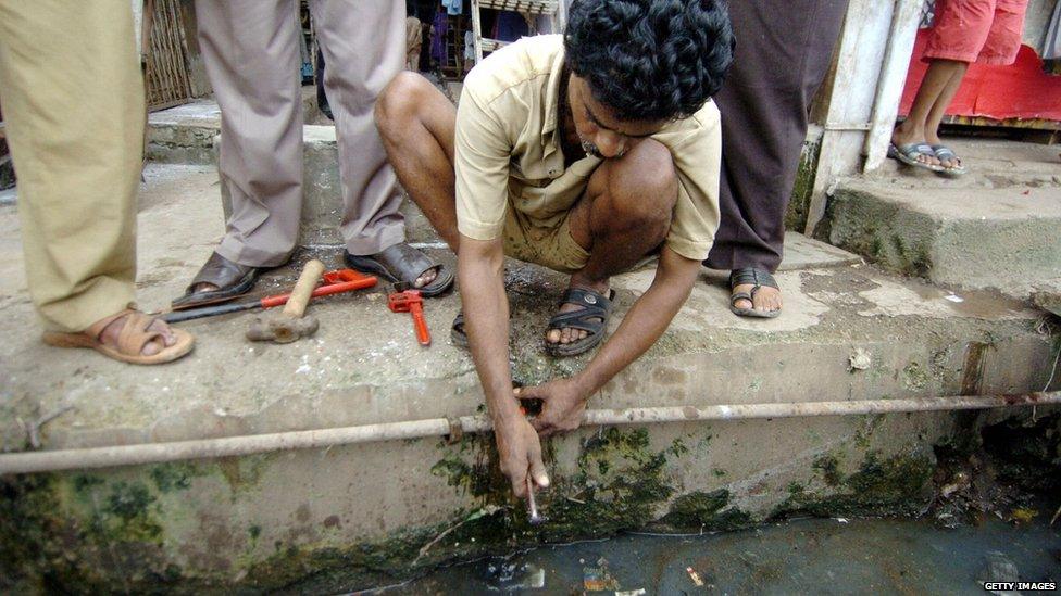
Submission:
{"label": "leftmost standing person in khaki-yellow trousers and tan sandal", "polygon": [[45,342],[134,364],[191,351],[130,308],[143,83],[128,0],[0,0],[0,103]]}

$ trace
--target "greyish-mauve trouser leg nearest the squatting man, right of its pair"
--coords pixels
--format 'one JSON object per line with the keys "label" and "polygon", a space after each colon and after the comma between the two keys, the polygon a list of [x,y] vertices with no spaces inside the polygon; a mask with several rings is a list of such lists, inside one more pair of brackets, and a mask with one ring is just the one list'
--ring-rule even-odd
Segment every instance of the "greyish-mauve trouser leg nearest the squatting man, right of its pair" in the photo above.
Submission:
{"label": "greyish-mauve trouser leg nearest the squatting man, right of its pair", "polygon": [[405,61],[405,3],[314,0],[324,86],[335,115],[347,250],[377,253],[405,238],[395,170],[373,121],[376,98]]}

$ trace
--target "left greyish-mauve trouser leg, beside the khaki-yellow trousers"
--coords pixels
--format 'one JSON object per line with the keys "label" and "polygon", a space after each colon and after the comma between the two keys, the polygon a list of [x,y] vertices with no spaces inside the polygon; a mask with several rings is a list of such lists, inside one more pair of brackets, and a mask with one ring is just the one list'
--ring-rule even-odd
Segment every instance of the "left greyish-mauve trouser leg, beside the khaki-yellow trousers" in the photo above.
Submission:
{"label": "left greyish-mauve trouser leg, beside the khaki-yellow trousers", "polygon": [[282,265],[295,249],[302,213],[295,2],[196,0],[196,14],[221,106],[220,169],[233,205],[217,253],[241,265]]}

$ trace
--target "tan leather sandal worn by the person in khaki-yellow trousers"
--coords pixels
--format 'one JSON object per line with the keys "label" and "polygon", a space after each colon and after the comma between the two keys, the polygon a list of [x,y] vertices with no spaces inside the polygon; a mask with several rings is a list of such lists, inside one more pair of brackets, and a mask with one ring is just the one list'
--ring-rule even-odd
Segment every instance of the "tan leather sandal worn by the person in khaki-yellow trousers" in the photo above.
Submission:
{"label": "tan leather sandal worn by the person in khaki-yellow trousers", "polygon": [[[99,337],[103,329],[115,319],[128,315],[122,331],[118,332],[117,347],[112,347],[100,342]],[[48,331],[42,340],[48,345],[55,347],[91,347],[100,354],[123,363],[138,365],[157,365],[172,363],[177,358],[191,352],[196,339],[191,333],[180,329],[170,328],[170,332],[177,339],[177,342],[168,347],[163,347],[158,354],[146,356],[141,354],[143,346],[152,340],[161,340],[161,331],[149,331],[148,327],[154,322],[154,317],[149,317],[143,313],[133,309],[122,310],[104,319],[96,321],[91,327],[80,333],[62,333],[59,331]]]}

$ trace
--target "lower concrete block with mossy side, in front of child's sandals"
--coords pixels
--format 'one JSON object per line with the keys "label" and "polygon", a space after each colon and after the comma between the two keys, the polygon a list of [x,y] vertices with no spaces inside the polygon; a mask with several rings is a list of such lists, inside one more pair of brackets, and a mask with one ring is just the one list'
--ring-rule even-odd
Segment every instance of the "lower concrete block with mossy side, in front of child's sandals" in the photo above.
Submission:
{"label": "lower concrete block with mossy side, in front of child's sandals", "polygon": [[1061,264],[1061,187],[840,185],[829,242],[903,275],[1025,299]]}

